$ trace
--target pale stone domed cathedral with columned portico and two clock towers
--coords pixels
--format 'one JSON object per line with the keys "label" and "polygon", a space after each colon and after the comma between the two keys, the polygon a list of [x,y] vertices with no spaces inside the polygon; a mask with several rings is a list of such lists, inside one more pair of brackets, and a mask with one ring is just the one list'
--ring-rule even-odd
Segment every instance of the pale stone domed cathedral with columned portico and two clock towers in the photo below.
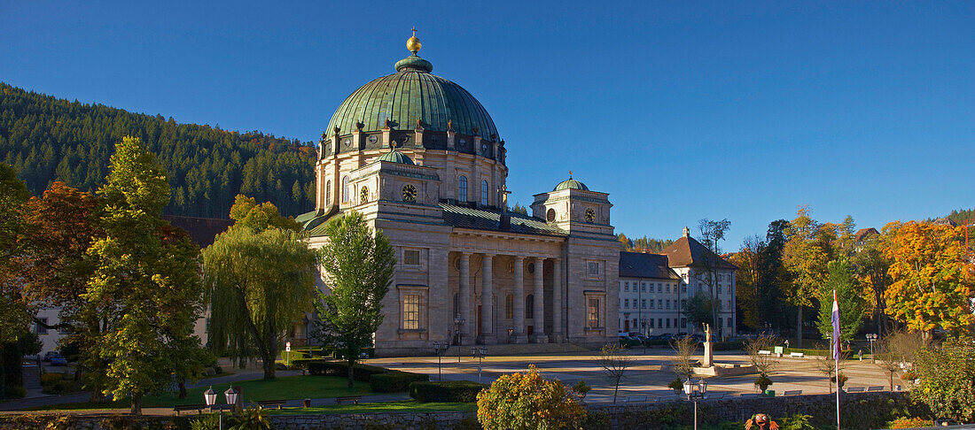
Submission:
{"label": "pale stone domed cathedral with columned portico and two clock towers", "polygon": [[296,217],[315,247],[325,222],[350,210],[395,246],[376,354],[429,354],[434,341],[615,340],[620,249],[608,195],[568,179],[535,195],[531,216],[509,212],[507,148],[487,110],[432,74],[415,30],[407,48],[396,73],[331,116],[315,210]]}

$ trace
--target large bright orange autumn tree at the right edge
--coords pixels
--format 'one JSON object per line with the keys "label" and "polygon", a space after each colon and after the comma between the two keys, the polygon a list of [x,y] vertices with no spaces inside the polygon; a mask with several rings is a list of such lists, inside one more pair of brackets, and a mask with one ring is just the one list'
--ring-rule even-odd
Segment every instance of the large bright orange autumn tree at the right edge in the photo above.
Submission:
{"label": "large bright orange autumn tree at the right edge", "polygon": [[969,302],[975,274],[961,229],[916,221],[883,228],[891,237],[886,249],[892,280],[884,295],[887,308],[925,338],[939,327],[958,332],[975,322]]}

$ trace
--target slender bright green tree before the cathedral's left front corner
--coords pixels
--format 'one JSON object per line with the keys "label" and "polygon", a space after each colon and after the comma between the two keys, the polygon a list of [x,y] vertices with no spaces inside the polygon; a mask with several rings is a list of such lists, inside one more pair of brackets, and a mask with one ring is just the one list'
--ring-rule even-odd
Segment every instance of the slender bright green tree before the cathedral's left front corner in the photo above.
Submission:
{"label": "slender bright green tree before the cathedral's left front corner", "polygon": [[396,267],[393,246],[382,232],[372,232],[362,214],[350,211],[326,224],[328,239],[320,250],[327,293],[315,302],[325,343],[348,364],[349,388],[363,348],[382,323],[386,297]]}

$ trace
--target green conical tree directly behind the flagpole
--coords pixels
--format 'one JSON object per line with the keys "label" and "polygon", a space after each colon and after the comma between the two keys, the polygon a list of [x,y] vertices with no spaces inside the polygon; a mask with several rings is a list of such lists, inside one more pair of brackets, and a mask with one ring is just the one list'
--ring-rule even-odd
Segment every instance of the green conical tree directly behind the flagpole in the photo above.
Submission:
{"label": "green conical tree directly behind the flagpole", "polygon": [[826,284],[819,291],[819,320],[816,327],[823,339],[833,336],[833,292],[837,292],[839,304],[839,340],[853,340],[863,325],[867,304],[860,292],[860,284],[849,260],[844,257],[828,265],[829,275]]}

